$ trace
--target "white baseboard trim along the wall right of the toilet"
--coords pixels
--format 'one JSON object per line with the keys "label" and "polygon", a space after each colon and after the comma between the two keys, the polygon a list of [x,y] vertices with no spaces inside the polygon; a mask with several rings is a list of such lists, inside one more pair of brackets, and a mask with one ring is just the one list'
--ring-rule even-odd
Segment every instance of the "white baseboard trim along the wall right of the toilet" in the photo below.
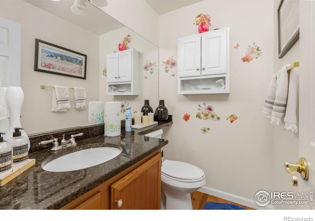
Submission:
{"label": "white baseboard trim along the wall right of the toilet", "polygon": [[223,192],[217,189],[213,189],[211,187],[201,187],[200,189],[198,189],[199,192],[201,193],[206,193],[208,195],[213,195],[234,203],[238,203],[241,204],[243,206],[247,206],[253,209],[257,209],[257,210],[273,210],[274,207],[272,205],[267,205],[267,206],[258,206],[254,200],[252,199],[248,199],[242,196],[238,196],[238,195],[234,195],[231,193],[227,193],[227,192]]}

